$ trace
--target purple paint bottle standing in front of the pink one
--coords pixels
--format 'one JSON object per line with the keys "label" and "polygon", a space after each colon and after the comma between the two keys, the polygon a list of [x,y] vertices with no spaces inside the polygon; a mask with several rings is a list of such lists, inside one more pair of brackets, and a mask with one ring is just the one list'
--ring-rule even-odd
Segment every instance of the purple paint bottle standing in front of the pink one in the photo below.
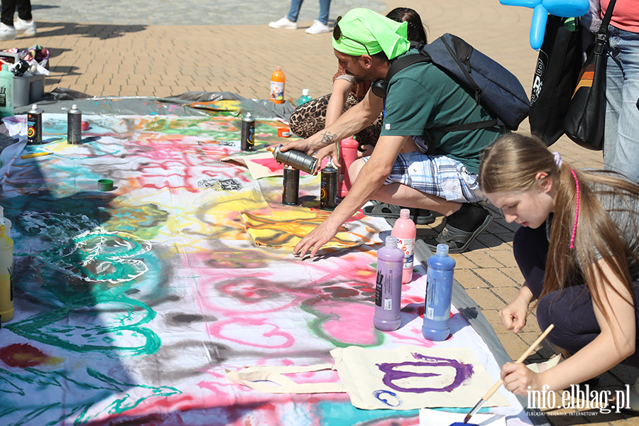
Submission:
{"label": "purple paint bottle standing in front of the pink one", "polygon": [[404,252],[397,248],[397,237],[387,236],[386,246],[377,251],[375,317],[373,325],[383,332],[399,328],[402,301]]}

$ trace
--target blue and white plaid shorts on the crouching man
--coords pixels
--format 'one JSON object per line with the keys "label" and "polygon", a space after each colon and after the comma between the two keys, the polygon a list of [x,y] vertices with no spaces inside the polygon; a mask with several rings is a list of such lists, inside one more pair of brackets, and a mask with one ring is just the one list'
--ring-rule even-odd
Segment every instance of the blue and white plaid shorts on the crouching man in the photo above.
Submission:
{"label": "blue and white plaid shorts on the crouching man", "polygon": [[[368,157],[364,161],[368,161]],[[477,175],[470,173],[464,164],[444,155],[425,155],[417,151],[400,153],[384,185],[391,183],[401,183],[447,201],[486,200],[479,190]]]}

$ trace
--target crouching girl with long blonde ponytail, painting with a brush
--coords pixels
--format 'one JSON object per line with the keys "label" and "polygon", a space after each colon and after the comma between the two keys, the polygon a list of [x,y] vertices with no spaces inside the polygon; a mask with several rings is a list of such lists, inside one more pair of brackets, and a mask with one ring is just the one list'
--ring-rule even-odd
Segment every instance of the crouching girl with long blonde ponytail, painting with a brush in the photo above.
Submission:
{"label": "crouching girl with long blonde ponytail, painting with a brush", "polygon": [[537,300],[540,329],[555,324],[547,339],[569,356],[542,373],[505,364],[506,389],[560,391],[617,364],[639,366],[639,185],[577,170],[538,139],[510,134],[486,148],[479,186],[506,222],[521,224],[513,252],[525,283],[499,312],[503,324],[520,332]]}

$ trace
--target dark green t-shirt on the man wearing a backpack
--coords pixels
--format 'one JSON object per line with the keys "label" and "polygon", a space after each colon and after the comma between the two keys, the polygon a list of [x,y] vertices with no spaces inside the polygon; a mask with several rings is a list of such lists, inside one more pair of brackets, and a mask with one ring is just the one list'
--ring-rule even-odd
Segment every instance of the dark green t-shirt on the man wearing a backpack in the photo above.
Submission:
{"label": "dark green t-shirt on the man wearing a backpack", "polygon": [[[405,55],[419,53],[411,48]],[[391,78],[385,108],[381,136],[422,137],[425,129],[493,119],[488,111],[477,105],[474,94],[429,62],[410,65]],[[484,148],[493,143],[503,129],[495,126],[429,133],[435,142],[434,155],[454,158],[464,163],[471,173],[479,173]]]}

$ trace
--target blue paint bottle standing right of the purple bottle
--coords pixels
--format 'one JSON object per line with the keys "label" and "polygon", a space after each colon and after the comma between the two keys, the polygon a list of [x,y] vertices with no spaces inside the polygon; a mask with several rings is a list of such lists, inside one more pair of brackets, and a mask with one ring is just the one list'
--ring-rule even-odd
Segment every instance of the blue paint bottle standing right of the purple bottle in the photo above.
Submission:
{"label": "blue paint bottle standing right of the purple bottle", "polygon": [[441,342],[450,334],[450,302],[455,260],[448,256],[448,246],[437,244],[437,253],[428,258],[426,303],[422,336]]}

